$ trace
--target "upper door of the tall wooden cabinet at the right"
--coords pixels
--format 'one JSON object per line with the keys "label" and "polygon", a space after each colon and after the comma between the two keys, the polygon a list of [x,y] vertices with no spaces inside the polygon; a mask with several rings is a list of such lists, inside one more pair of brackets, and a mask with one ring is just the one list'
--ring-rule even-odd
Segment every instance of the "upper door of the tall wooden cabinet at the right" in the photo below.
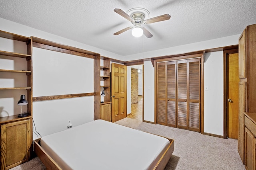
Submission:
{"label": "upper door of the tall wooden cabinet at the right", "polygon": [[239,78],[246,78],[246,29],[238,41],[239,50]]}

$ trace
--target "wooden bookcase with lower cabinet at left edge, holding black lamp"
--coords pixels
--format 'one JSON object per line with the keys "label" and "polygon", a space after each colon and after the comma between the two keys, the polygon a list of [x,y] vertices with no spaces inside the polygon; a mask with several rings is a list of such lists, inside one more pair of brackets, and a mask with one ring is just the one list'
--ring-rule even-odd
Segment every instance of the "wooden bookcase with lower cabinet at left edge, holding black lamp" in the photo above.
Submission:
{"label": "wooden bookcase with lower cabinet at left edge, holding black lamp", "polygon": [[[32,151],[32,41],[5,31],[0,31],[0,37],[0,79],[4,82],[0,84],[0,164],[5,170],[29,160]],[[28,117],[18,118],[20,106],[16,106],[23,94],[28,101],[23,111],[27,108]]]}

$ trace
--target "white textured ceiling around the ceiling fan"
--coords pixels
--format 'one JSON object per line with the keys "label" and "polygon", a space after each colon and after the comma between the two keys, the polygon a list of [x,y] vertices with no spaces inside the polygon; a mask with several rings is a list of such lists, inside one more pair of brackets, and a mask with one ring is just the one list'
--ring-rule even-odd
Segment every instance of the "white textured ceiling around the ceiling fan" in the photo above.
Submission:
{"label": "white textured ceiling around the ceiling fan", "polygon": [[[113,35],[132,26],[114,9],[137,7],[171,19],[144,25],[152,38]],[[256,23],[256,0],[1,0],[0,18],[126,56],[240,34]]]}

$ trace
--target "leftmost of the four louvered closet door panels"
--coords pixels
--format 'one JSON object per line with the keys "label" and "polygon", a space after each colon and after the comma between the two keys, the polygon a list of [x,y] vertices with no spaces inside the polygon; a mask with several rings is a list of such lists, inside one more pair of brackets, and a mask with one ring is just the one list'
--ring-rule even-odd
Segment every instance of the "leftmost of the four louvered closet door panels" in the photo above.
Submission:
{"label": "leftmost of the four louvered closet door panels", "polygon": [[166,125],[166,63],[157,64],[157,123]]}

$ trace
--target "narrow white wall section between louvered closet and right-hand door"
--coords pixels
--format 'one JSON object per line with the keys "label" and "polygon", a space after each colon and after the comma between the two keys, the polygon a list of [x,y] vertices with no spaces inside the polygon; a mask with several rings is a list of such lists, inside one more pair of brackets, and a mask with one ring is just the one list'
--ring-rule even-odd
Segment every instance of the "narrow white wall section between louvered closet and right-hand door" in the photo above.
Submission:
{"label": "narrow white wall section between louvered closet and right-hand door", "polygon": [[[204,132],[224,135],[223,51],[204,56]],[[208,90],[207,90],[208,89]]]}

